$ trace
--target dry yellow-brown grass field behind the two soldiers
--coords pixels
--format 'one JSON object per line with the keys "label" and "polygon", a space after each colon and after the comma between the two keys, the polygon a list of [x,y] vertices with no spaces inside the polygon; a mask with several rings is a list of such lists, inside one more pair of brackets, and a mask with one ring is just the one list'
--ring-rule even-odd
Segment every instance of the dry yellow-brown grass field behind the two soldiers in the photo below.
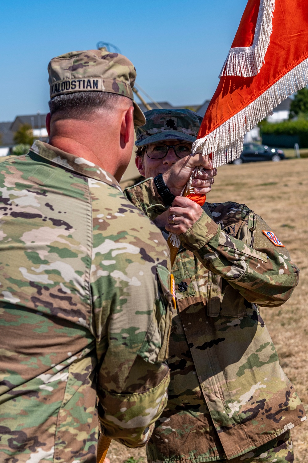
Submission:
{"label": "dry yellow-brown grass field behind the two soldiers", "polygon": [[[262,308],[261,314],[280,364],[308,412],[308,159],[222,166],[207,200],[247,204],[272,227],[301,269],[290,300],[276,309]],[[308,462],[308,420],[294,428],[292,436],[295,462]],[[129,457],[146,461],[145,449],[127,449],[114,441],[107,457],[111,463]]]}

